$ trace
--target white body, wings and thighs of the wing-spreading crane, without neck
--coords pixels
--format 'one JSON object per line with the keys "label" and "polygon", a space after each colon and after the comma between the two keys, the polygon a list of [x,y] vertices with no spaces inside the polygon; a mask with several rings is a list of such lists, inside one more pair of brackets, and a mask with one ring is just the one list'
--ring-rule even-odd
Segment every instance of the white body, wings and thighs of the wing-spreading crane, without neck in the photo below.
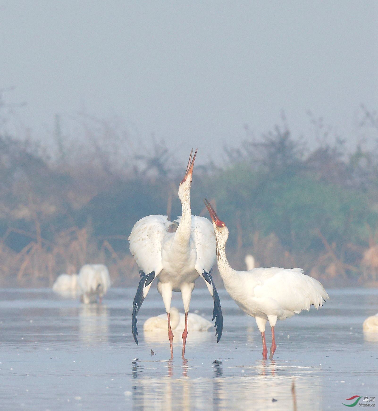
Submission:
{"label": "white body, wings and thighs of the wing-spreading crane, without neck", "polygon": [[[182,216],[179,216],[175,222],[180,224],[181,220]],[[192,215],[187,245],[181,241],[176,244],[177,231],[168,231],[172,224],[166,215],[143,217],[136,222],[129,236],[130,251],[143,272],[155,273],[157,289],[163,296],[167,312],[171,306],[172,291],[184,293],[184,309],[187,312],[190,302],[187,294],[194,289],[194,281],[203,271],[210,272],[216,261],[214,231],[207,218]],[[144,287],[144,298],[150,286],[151,283]]]}

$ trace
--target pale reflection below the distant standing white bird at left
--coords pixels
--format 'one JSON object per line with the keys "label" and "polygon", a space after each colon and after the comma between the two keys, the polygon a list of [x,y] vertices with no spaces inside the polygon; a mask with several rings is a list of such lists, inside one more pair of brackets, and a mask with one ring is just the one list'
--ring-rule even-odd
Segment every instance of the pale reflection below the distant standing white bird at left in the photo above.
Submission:
{"label": "pale reflection below the distant standing white bird at left", "polygon": [[108,343],[108,309],[106,305],[84,304],[79,314],[79,338],[88,346]]}

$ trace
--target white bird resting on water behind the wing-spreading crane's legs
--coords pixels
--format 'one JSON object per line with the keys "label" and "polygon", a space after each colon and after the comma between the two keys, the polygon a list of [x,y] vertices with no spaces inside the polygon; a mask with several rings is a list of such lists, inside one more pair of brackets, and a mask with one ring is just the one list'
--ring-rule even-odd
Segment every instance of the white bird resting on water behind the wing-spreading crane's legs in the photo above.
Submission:
{"label": "white bird resting on water behind the wing-spreading crane's legs", "polygon": [[[172,331],[183,332],[185,328],[185,315],[178,311],[176,307],[171,307],[171,329]],[[188,314],[188,332],[207,331],[212,323],[197,314]],[[148,318],[143,324],[143,330],[148,331],[168,331],[168,321],[166,314]]]}

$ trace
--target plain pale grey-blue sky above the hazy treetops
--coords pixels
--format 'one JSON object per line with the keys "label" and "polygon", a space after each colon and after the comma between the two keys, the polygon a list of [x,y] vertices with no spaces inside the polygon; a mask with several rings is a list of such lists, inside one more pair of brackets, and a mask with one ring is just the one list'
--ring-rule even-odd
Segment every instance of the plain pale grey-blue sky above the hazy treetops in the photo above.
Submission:
{"label": "plain pale grey-blue sky above the hazy treetops", "polygon": [[[85,106],[116,113],[187,157],[219,155],[307,111],[348,139],[361,103],[378,108],[377,1],[0,0],[1,87],[32,135],[65,131]],[[199,154],[199,153],[198,153]]]}

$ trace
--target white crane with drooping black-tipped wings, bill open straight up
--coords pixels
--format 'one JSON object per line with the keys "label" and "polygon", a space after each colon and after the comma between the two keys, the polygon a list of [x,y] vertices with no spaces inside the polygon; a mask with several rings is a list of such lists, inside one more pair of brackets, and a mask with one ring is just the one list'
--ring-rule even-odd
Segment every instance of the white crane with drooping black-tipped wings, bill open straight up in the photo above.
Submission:
{"label": "white crane with drooping black-tipped wings, bill open straight up", "polygon": [[133,302],[131,329],[136,344],[138,330],[136,314],[147,296],[151,283],[158,279],[157,290],[161,294],[168,318],[168,338],[173,358],[173,332],[171,330],[170,310],[172,291],[181,291],[185,310],[185,328],[182,333],[182,358],[185,354],[187,339],[187,319],[191,292],[194,281],[201,276],[214,300],[213,320],[217,331],[217,341],[221,338],[223,317],[217,289],[211,277],[211,268],[215,263],[216,244],[211,222],[191,215],[190,186],[197,150],[193,159],[190,153],[187,170],[180,182],[178,196],[182,204],[182,216],[175,220],[179,224],[168,221],[166,215],[149,215],[134,225],[129,236],[130,251],[141,268],[141,279]]}

